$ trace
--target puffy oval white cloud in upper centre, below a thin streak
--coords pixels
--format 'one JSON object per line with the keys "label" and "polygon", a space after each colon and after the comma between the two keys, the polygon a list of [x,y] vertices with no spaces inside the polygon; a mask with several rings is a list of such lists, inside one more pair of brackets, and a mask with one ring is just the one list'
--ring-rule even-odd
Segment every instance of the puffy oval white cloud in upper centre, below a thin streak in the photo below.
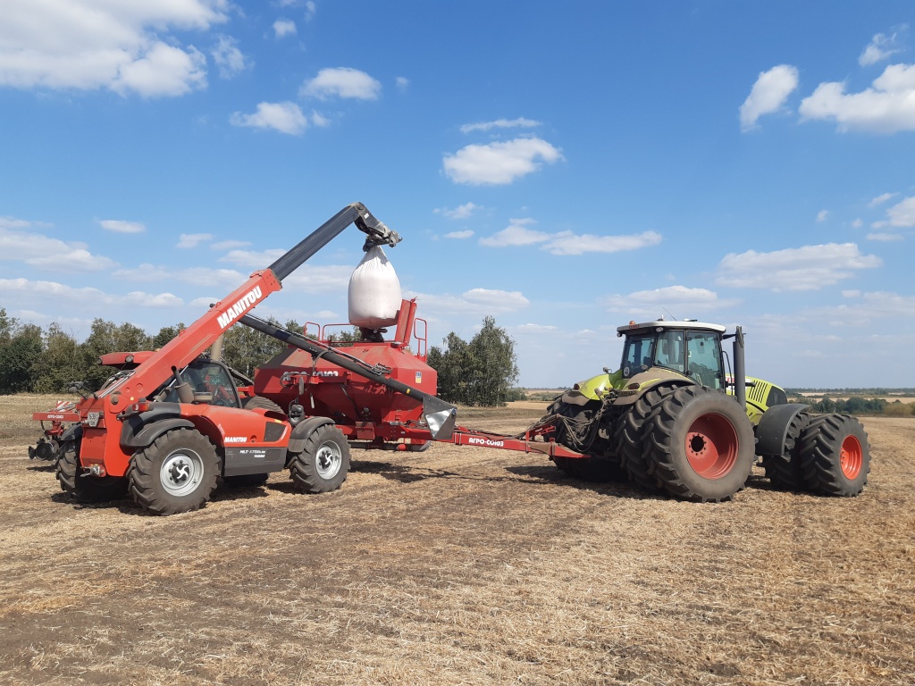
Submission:
{"label": "puffy oval white cloud in upper centre, below a thin streak", "polygon": [[455,183],[472,186],[510,184],[542,166],[563,159],[558,148],[540,138],[515,138],[505,143],[467,145],[445,155],[445,173]]}

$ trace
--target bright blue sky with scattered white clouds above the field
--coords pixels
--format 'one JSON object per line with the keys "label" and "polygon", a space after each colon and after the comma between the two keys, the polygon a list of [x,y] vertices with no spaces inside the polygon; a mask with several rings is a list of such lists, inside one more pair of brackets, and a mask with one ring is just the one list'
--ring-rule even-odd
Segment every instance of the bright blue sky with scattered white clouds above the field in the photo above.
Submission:
{"label": "bright blue sky with scattered white clouds above the field", "polygon": [[[910,2],[5,0],[0,305],[190,323],[346,204],[430,344],[491,315],[520,383],[657,316],[786,386],[915,386]],[[361,233],[261,316],[347,318]]]}

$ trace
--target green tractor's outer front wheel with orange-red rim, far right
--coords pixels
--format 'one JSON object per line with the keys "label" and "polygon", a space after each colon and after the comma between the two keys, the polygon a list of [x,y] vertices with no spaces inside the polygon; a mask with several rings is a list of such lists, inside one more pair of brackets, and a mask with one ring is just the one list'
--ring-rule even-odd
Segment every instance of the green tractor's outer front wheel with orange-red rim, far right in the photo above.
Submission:
{"label": "green tractor's outer front wheel with orange-red rim, far right", "polygon": [[823,496],[849,498],[864,490],[870,473],[867,432],[848,414],[822,414],[801,433],[801,469],[807,486]]}

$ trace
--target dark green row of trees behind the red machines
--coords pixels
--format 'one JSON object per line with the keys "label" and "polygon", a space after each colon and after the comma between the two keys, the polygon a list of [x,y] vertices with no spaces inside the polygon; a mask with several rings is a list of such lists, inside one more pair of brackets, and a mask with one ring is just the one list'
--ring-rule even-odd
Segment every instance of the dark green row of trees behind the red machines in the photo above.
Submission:
{"label": "dark green row of trees behind the red machines", "polygon": [[[281,326],[274,318],[274,326]],[[295,321],[285,322],[290,331],[303,333]],[[65,393],[73,381],[83,381],[94,391],[112,374],[99,364],[109,352],[162,348],[184,324],[161,327],[148,334],[133,324],[115,324],[102,318],[92,321],[89,336],[77,342],[59,324],[47,329],[8,316],[0,307],[0,395],[18,392]],[[361,339],[360,329],[343,330],[329,337],[338,345]],[[495,319],[487,316],[479,333],[465,341],[454,332],[443,347],[428,350],[428,364],[438,373],[438,394],[448,402],[494,406],[520,400],[523,391],[514,388],[518,379],[514,341]],[[243,325],[228,329],[223,338],[222,359],[232,369],[251,377],[254,368],[285,348],[285,343]]]}

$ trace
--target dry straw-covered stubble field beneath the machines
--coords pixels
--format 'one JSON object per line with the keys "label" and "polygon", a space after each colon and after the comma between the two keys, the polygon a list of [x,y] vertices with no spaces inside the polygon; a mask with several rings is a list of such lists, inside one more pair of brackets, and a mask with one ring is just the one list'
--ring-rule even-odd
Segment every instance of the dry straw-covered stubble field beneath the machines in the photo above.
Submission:
{"label": "dry straw-covered stubble field beneath the machines", "polygon": [[0,683],[915,683],[915,420],[864,420],[852,499],[757,473],[698,505],[439,444],[156,518],[27,459],[52,400],[0,398]]}

